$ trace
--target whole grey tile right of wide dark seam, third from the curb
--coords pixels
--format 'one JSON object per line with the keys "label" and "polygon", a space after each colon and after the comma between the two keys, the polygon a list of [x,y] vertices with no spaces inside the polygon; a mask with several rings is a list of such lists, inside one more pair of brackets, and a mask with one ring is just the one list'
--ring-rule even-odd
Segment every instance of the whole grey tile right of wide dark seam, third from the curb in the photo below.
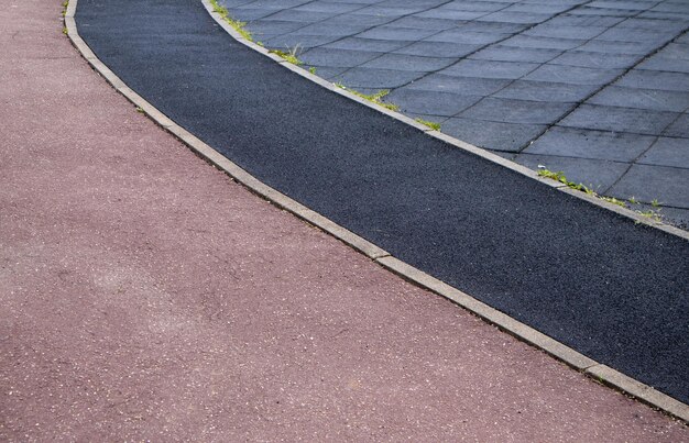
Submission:
{"label": "whole grey tile right of wide dark seam, third from the curb", "polygon": [[678,117],[676,112],[582,104],[559,124],[582,129],[660,135]]}

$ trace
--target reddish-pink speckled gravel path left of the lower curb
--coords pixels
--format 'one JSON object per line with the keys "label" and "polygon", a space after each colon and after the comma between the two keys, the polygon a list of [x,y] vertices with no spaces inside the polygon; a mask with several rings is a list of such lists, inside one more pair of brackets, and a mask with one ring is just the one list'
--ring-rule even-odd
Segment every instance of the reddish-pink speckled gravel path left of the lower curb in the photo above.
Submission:
{"label": "reddish-pink speckled gravel path left of the lower curb", "polygon": [[0,8],[0,440],[689,441],[233,184]]}

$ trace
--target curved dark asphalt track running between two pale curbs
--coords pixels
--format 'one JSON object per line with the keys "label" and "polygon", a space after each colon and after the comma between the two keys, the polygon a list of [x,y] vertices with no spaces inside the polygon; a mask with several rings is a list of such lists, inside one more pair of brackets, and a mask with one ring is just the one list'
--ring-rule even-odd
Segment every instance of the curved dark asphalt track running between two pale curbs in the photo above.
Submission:
{"label": "curved dark asphalt track running between two pale curbs", "polygon": [[200,0],[80,0],[77,23],[132,89],[267,185],[689,402],[689,242],[327,91]]}

